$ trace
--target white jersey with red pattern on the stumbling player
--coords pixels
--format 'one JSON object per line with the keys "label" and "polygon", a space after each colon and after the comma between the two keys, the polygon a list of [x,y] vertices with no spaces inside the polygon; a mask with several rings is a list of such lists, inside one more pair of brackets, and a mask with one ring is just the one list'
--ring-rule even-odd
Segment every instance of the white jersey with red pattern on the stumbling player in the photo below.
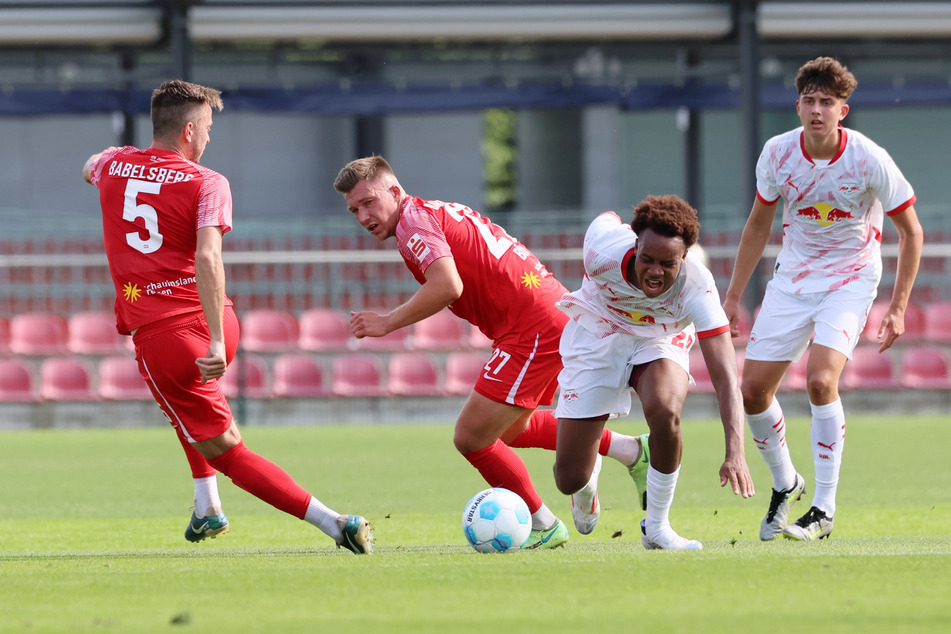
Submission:
{"label": "white jersey with red pattern on the stumbling player", "polygon": [[713,274],[693,253],[687,253],[674,284],[660,296],[647,297],[631,284],[625,273],[636,240],[631,226],[614,212],[595,218],[584,236],[581,289],[565,295],[559,308],[602,337],[664,337],[691,324],[701,339],[729,332]]}

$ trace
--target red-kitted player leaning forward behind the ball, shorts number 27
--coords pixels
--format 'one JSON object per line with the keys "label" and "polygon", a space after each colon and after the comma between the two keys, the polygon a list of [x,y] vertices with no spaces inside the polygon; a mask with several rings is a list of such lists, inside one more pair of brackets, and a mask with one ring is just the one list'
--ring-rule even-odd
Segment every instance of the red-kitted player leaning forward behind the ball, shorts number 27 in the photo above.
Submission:
{"label": "red-kitted player leaning forward behind the ball, shorts number 27", "polygon": [[[558,422],[550,405],[557,389],[558,343],[567,316],[555,307],[565,287],[524,245],[469,207],[406,193],[383,157],[348,163],[334,181],[360,225],[380,241],[396,237],[400,255],[421,288],[388,314],[352,314],[357,338],[382,337],[444,308],[474,324],[493,342],[484,371],[456,421],[453,442],[490,486],[518,493],[532,512],[526,548],[555,548],[568,539],[564,523],[535,491],[525,463],[511,447],[554,450]],[[646,439],[605,429],[590,486],[572,496],[582,534],[600,514],[600,456],[615,458],[643,491]]]}

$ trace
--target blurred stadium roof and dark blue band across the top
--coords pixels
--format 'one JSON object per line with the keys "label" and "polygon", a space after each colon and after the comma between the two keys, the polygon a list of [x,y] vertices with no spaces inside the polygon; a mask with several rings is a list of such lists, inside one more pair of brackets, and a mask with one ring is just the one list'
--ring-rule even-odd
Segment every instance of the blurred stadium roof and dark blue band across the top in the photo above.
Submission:
{"label": "blurred stadium roof and dark blue band across the top", "polygon": [[876,60],[864,105],[949,103],[951,3],[0,0],[0,116],[143,113],[171,76],[269,112],[785,107],[819,53]]}

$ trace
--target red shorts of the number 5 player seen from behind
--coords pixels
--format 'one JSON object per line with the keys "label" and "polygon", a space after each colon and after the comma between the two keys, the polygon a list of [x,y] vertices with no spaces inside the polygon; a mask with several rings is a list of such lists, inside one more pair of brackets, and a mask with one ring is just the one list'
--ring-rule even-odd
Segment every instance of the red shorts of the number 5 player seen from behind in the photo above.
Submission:
{"label": "red shorts of the number 5 player seen from behind", "polygon": [[[238,318],[225,307],[228,363],[238,347]],[[135,358],[155,401],[190,442],[215,438],[231,426],[231,408],[218,379],[202,385],[195,359],[208,353],[208,325],[201,312],[147,324],[133,335]]]}

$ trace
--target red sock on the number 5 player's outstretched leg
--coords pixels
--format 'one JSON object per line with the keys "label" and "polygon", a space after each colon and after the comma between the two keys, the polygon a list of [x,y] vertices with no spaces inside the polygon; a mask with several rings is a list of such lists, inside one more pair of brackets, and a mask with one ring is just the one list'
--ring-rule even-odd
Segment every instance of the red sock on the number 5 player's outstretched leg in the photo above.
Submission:
{"label": "red sock on the number 5 player's outstretched leg", "polygon": [[244,441],[208,462],[237,486],[274,508],[298,519],[307,514],[310,493],[279,466],[248,449]]}

